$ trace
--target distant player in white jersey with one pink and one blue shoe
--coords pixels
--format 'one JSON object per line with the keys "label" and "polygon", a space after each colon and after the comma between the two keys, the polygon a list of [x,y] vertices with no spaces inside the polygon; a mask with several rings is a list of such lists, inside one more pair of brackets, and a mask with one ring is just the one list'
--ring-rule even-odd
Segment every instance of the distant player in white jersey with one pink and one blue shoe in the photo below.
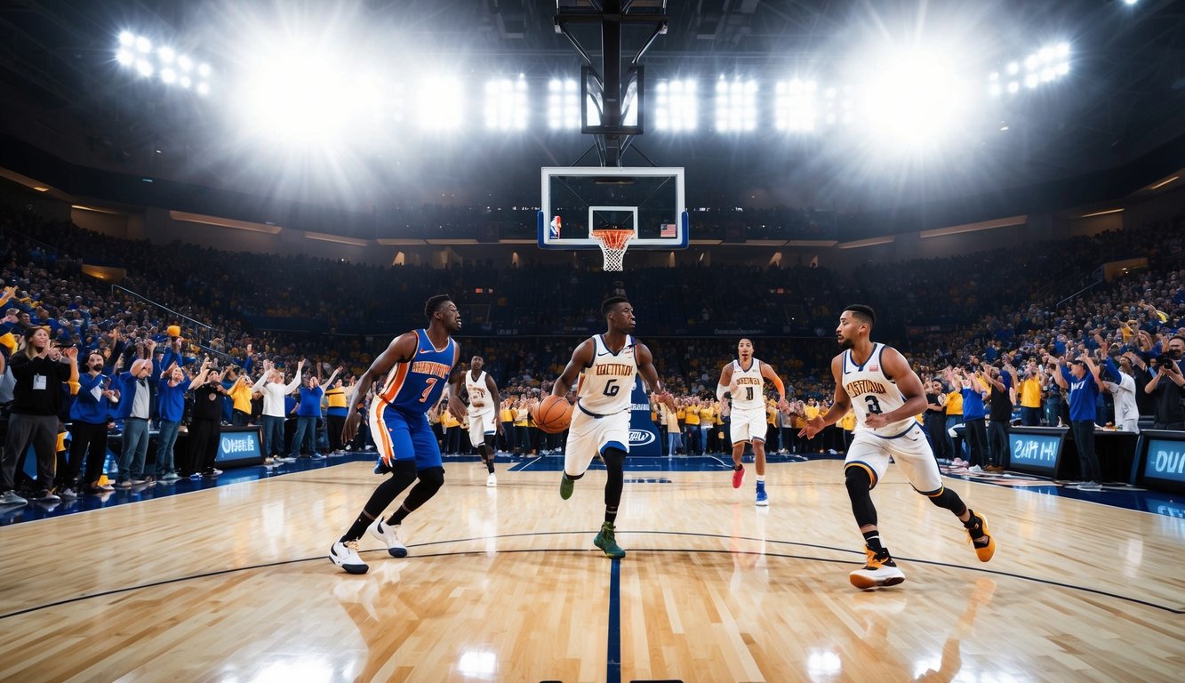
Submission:
{"label": "distant player in white jersey with one pink and one blue shoe", "polygon": [[716,385],[716,397],[723,403],[725,394],[732,397],[729,411],[729,436],[732,439],[732,487],[739,489],[744,480],[744,445],[752,443],[754,468],[757,470],[757,505],[769,505],[766,493],[766,379],[777,390],[777,409],[790,410],[786,402],[786,387],[773,365],[752,357],[752,340],[742,339],[737,344],[737,359],[720,370],[720,382]]}

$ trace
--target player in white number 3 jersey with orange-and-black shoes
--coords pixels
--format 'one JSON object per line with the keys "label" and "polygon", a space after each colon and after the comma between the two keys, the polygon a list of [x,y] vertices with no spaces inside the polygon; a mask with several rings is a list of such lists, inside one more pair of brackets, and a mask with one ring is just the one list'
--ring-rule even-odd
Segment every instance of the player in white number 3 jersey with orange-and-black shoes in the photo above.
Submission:
{"label": "player in white number 3 jersey with orange-and-black shoes", "polygon": [[984,516],[975,515],[959,494],[942,485],[934,452],[916,419],[925,409],[922,381],[896,349],[869,339],[875,323],[876,314],[867,306],[844,309],[835,328],[844,352],[831,362],[835,401],[826,415],[809,420],[799,433],[809,439],[834,425],[848,408],[856,413],[856,435],[844,460],[844,477],[867,555],[867,562],[852,572],[850,579],[853,586],[864,589],[905,580],[880,544],[877,510],[869,494],[889,468],[890,457],[915,491],[959,517],[981,561],[987,562],[995,553],[995,541],[988,535]]}

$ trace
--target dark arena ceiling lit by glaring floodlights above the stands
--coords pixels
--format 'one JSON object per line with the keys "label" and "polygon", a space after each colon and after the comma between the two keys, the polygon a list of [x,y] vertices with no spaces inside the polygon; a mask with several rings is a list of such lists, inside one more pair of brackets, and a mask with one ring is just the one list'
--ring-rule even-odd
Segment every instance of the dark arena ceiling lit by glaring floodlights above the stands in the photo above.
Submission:
{"label": "dark arena ceiling lit by glaring floodlights above the stands", "polygon": [[[556,31],[557,12],[603,5],[9,0],[0,5],[0,133],[84,167],[326,206],[536,203],[540,166],[596,162],[591,136],[549,127],[546,94],[583,63]],[[639,60],[647,125],[623,162],[686,167],[688,205],[872,211],[1035,187],[1069,205],[1090,199],[1075,187],[1123,196],[1185,166],[1185,2],[636,0],[623,11],[639,18],[622,30],[627,60],[651,38],[646,19],[666,17]],[[577,28],[602,69],[600,25]],[[150,77],[121,65],[121,32],[207,63],[209,94],[162,83],[161,64]],[[1025,60],[1050,46],[1068,51],[1058,56],[1068,66],[1039,64],[1030,87]],[[310,71],[277,88],[280,100],[248,104],[252,89],[275,84],[261,71],[269,50]],[[904,85],[886,76],[892,50],[921,55]],[[414,83],[438,74],[460,83],[461,100],[438,103],[440,119],[457,122],[425,130],[423,113],[437,103]],[[487,127],[491,78],[526,83],[521,128]],[[752,128],[725,129],[719,83],[749,78]],[[692,130],[659,128],[658,88],[678,79],[698,83]],[[809,130],[775,125],[776,84],[792,79],[815,88]],[[356,81],[366,94],[344,85]],[[899,95],[893,88],[912,98],[904,110],[877,100]],[[329,133],[314,120],[274,135],[270,117],[327,103],[358,117]],[[880,126],[890,114],[916,123]],[[936,114],[947,114],[941,132]],[[912,134],[925,145],[897,145]],[[7,148],[4,166],[20,149]]]}

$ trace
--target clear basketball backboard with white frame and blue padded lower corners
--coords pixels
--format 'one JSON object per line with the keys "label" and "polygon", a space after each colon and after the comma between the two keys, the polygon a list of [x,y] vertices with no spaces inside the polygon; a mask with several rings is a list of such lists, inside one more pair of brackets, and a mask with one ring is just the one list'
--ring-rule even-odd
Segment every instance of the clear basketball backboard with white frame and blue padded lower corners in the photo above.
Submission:
{"label": "clear basketball backboard with white frame and blue padded lower corners", "polygon": [[545,166],[538,232],[543,249],[600,249],[592,231],[634,231],[630,249],[685,249],[681,167]]}

